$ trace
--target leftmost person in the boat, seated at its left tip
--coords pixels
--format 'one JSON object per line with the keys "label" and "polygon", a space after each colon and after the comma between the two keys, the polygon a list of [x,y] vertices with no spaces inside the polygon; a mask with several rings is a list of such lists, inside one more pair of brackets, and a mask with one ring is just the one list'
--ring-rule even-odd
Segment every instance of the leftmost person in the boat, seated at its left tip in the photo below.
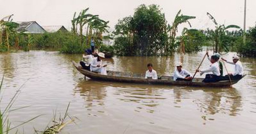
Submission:
{"label": "leftmost person in the boat, seated at its left tip", "polygon": [[90,49],[86,49],[84,53],[85,53],[83,54],[84,61],[80,61],[80,65],[82,66],[82,68],[90,71],[90,64],[92,63],[94,57]]}

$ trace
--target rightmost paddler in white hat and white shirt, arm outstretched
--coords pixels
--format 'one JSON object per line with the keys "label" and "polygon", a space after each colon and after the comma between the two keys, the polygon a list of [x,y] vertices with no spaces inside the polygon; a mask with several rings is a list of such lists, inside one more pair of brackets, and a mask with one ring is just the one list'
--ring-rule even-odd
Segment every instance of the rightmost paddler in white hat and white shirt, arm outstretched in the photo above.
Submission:
{"label": "rightmost paddler in white hat and white shirt, arm outstretched", "polygon": [[[224,60],[225,62],[235,65],[235,71],[232,74],[227,74],[230,76],[231,80],[240,80],[242,78],[242,75],[244,74],[244,68],[242,66],[242,63],[239,61],[239,57],[235,55],[233,58],[233,62],[227,61],[224,58],[221,58],[221,60]],[[228,76],[225,76],[227,80],[229,80]]]}

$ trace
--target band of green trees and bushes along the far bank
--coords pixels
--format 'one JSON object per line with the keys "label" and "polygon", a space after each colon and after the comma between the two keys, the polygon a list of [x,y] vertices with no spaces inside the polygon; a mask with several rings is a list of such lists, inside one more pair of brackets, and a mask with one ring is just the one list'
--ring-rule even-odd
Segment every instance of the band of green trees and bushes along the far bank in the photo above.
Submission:
{"label": "band of green trees and bushes along the far bank", "polygon": [[[256,27],[244,33],[239,26],[224,26],[208,12],[206,15],[215,29],[193,29],[189,21],[196,17],[183,15],[181,10],[172,23],[168,23],[160,6],[140,5],[133,15],[120,19],[111,32],[109,21],[90,14],[87,8],[73,14],[70,32],[24,34],[17,32],[19,24],[12,21],[12,14],[0,20],[0,51],[53,49],[68,54],[83,53],[85,48],[90,48],[93,38],[99,51],[118,56],[170,55],[175,51],[191,53],[201,51],[202,46],[212,46],[215,52],[232,50],[243,56],[256,57]],[[180,24],[186,25],[177,35]],[[244,34],[247,36],[245,43],[242,40]]]}

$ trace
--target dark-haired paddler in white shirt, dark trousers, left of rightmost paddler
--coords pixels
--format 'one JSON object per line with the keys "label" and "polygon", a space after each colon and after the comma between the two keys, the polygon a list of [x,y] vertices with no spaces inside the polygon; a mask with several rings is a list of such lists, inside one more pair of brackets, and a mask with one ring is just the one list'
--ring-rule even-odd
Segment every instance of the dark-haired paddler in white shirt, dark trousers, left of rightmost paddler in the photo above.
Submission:
{"label": "dark-haired paddler in white shirt, dark trousers, left of rightmost paddler", "polygon": [[208,72],[212,72],[212,74],[206,74],[203,82],[204,83],[213,83],[213,82],[218,82],[219,78],[220,78],[220,68],[218,65],[218,57],[216,55],[212,55],[210,62],[212,63],[212,65],[210,65],[209,69],[207,70],[196,70],[196,71],[200,71],[200,75],[204,74],[204,73],[208,73]]}

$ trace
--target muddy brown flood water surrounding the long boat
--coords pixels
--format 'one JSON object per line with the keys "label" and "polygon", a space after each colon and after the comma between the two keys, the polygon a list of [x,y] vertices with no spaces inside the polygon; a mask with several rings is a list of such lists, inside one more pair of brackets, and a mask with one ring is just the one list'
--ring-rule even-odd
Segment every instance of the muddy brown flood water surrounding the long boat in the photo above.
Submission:
{"label": "muddy brown flood water surrounding the long boat", "polygon": [[[224,57],[231,59],[233,54]],[[153,63],[158,75],[172,75],[175,62],[180,60],[183,68],[194,73],[202,57],[204,52],[173,57],[113,57],[104,62],[108,70],[134,73],[144,73],[147,63]],[[256,59],[241,59],[247,76],[233,88],[84,80],[72,60],[81,60],[81,55],[51,51],[0,53],[0,77],[5,74],[2,110],[20,87],[12,108],[29,106],[10,113],[12,126],[43,114],[19,128],[25,134],[34,133],[34,128],[43,131],[54,111],[64,115],[70,102],[69,113],[76,117],[76,124],[67,125],[61,134],[256,133]],[[206,59],[201,68],[208,66]],[[226,66],[233,71],[232,65]]]}

